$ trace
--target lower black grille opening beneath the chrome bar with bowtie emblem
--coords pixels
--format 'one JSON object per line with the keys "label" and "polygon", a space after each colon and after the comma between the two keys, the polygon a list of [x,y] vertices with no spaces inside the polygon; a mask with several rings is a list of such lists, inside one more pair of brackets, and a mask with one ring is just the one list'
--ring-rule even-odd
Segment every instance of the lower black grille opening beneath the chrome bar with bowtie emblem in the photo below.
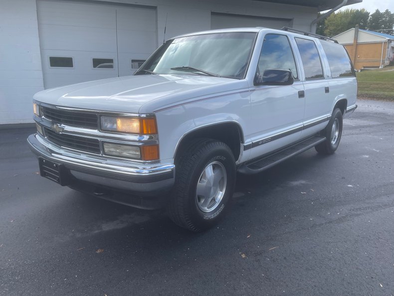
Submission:
{"label": "lower black grille opening beneath the chrome bar with bowtie emblem", "polygon": [[91,138],[67,135],[67,134],[57,134],[48,128],[44,128],[44,131],[45,131],[45,137],[52,143],[55,143],[59,146],[100,154],[100,144],[99,144],[99,140],[97,139],[91,139]]}

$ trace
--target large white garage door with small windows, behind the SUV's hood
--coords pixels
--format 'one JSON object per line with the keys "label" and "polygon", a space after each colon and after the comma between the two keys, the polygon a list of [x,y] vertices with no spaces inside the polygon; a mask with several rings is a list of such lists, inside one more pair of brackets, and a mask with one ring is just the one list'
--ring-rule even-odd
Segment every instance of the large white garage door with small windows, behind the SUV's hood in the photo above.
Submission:
{"label": "large white garage door with small windows, behind the SUV's hood", "polygon": [[131,75],[157,48],[156,8],[38,0],[44,87]]}

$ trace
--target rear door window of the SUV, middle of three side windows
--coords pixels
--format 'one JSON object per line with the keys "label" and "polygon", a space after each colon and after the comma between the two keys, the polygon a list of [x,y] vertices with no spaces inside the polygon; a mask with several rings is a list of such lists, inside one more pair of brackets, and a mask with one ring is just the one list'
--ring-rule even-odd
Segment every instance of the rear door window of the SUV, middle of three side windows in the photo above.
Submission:
{"label": "rear door window of the SUV, middle of three side windows", "polygon": [[300,50],[302,64],[304,65],[305,79],[322,79],[323,68],[319,52],[313,40],[295,38]]}

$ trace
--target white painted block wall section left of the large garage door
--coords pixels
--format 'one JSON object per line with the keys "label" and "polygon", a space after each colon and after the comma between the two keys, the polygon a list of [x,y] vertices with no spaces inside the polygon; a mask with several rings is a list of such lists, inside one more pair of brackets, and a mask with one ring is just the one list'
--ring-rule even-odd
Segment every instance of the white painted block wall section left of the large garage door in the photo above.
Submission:
{"label": "white painted block wall section left of the large garage door", "polygon": [[35,0],[0,0],[0,124],[33,122],[42,89]]}

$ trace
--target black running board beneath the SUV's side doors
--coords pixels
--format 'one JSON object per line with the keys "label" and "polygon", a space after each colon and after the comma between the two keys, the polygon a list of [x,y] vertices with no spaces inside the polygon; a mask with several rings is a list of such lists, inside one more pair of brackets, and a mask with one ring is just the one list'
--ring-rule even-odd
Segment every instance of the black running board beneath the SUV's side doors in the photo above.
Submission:
{"label": "black running board beneath the SUV's side doors", "polygon": [[275,151],[273,153],[264,155],[257,159],[246,162],[238,168],[238,172],[243,174],[256,174],[263,170],[266,170],[274,165],[293,157],[294,155],[300,154],[319,143],[322,143],[326,140],[325,137],[322,136],[314,136],[298,142],[292,146],[286,147],[284,149]]}

